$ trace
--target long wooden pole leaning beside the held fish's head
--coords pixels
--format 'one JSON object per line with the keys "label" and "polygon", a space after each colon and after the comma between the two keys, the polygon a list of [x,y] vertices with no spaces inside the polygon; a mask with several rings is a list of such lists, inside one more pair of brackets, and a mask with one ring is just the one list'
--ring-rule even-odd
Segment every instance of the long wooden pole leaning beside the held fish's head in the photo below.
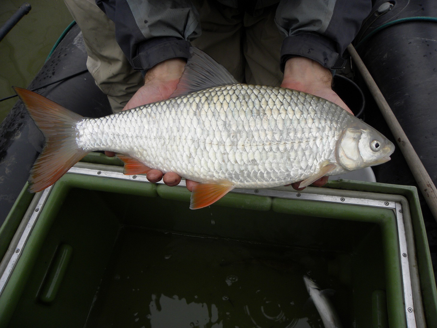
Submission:
{"label": "long wooden pole leaning beside the held fish's head", "polygon": [[348,45],[347,50],[354,60],[354,63],[357,65],[369,91],[373,95],[373,98],[375,98],[376,104],[378,105],[385,122],[387,122],[390,131],[395,137],[399,149],[402,151],[402,154],[416,179],[417,185],[434,216],[434,220],[437,221],[437,189],[434,182],[431,180],[427,170],[422,164],[422,161],[420,161],[419,156],[417,156],[416,150],[414,150],[409,142],[404,130],[396,119],[395,114],[393,114],[392,109],[388,105],[381,90],[379,90],[375,80],[373,80],[373,77],[370,75],[354,46],[351,44]]}

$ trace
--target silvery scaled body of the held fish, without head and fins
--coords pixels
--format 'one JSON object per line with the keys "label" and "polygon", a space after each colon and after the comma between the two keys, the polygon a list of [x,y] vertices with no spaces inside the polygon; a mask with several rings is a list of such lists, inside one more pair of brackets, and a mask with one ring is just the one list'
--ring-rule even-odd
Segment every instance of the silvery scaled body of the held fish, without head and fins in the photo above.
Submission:
{"label": "silvery scaled body of the held fish, without head and fins", "polygon": [[303,180],[325,161],[335,161],[336,141],[351,119],[339,106],[299,91],[234,84],[107,120],[83,119],[76,125],[76,143],[85,151],[127,154],[198,182],[267,188]]}

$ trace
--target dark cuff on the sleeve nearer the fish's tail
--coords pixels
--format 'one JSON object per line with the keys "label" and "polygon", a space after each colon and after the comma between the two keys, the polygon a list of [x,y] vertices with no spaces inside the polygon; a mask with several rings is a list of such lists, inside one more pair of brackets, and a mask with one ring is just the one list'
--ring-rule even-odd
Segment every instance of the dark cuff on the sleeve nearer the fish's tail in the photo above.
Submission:
{"label": "dark cuff on the sleeve nearer the fish's tail", "polygon": [[190,46],[190,42],[173,37],[153,38],[139,45],[131,64],[134,70],[149,70],[166,59],[188,59]]}

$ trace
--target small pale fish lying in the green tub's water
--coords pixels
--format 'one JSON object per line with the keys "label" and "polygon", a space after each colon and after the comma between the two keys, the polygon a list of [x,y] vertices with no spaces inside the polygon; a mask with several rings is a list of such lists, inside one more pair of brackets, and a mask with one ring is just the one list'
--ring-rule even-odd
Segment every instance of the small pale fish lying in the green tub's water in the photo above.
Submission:
{"label": "small pale fish lying in the green tub's water", "polygon": [[338,318],[331,302],[326,297],[326,291],[320,290],[314,280],[308,276],[303,276],[303,281],[312,302],[319,312],[320,318],[322,318],[325,328],[341,328],[342,325],[340,319]]}

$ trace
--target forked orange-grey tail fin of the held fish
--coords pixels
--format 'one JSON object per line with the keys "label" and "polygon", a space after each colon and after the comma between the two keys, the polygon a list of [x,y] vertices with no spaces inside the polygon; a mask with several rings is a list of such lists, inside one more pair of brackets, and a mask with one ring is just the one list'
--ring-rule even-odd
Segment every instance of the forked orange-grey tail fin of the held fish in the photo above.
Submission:
{"label": "forked orange-grey tail fin of the held fish", "polygon": [[14,91],[45,136],[45,146],[29,178],[29,191],[38,192],[54,184],[88,153],[76,144],[76,123],[83,117],[33,91],[19,87]]}

